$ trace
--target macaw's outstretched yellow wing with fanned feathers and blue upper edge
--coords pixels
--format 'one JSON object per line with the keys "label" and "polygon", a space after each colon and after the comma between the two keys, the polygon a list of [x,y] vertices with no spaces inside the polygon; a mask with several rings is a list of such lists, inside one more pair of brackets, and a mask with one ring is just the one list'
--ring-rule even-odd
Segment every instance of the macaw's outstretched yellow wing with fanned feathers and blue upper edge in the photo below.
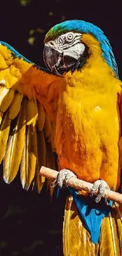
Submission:
{"label": "macaw's outstretched yellow wing with fanned feathers and blue upper edge", "polygon": [[0,42],[0,163],[8,184],[20,169],[22,187],[28,190],[35,180],[40,191],[40,167],[54,168],[54,129],[43,102],[46,106],[50,84],[58,80]]}

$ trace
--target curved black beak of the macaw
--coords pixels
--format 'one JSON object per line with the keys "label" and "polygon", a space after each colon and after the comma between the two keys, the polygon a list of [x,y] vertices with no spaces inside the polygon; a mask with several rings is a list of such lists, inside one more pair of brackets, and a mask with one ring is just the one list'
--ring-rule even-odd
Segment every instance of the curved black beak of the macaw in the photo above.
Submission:
{"label": "curved black beak of the macaw", "polygon": [[57,69],[63,65],[63,52],[54,49],[50,46],[44,46],[43,60],[46,64],[47,69],[54,72],[57,76],[61,76],[61,73]]}

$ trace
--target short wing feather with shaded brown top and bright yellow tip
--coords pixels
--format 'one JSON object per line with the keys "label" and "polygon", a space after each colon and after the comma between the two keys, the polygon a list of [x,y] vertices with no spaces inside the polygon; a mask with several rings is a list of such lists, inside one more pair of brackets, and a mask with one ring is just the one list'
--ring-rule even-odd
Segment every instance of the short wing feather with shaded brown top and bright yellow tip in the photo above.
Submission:
{"label": "short wing feather with shaded brown top and bright yellow tip", "polygon": [[38,118],[38,108],[35,100],[30,99],[27,102],[27,125],[35,126]]}

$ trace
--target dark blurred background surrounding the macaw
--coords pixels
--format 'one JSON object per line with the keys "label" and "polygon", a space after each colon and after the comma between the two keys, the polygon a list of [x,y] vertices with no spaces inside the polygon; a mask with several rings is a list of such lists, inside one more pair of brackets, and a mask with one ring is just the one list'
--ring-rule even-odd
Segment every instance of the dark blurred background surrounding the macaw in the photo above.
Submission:
{"label": "dark blurred background surrounding the macaw", "polygon": [[[43,65],[43,39],[63,20],[87,20],[102,28],[113,46],[122,79],[122,3],[66,0],[0,0],[0,40]],[[20,178],[7,185],[0,179],[0,256],[62,256],[65,192],[50,202],[23,191]],[[74,255],[75,256],[75,255]]]}

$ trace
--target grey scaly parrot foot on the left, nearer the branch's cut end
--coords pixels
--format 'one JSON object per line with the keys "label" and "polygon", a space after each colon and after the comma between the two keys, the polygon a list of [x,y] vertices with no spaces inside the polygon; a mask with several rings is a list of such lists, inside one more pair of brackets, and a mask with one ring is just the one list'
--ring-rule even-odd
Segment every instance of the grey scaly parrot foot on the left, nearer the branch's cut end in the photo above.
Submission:
{"label": "grey scaly parrot foot on the left, nearer the branch's cut end", "polygon": [[[72,173],[72,171],[68,169],[62,169],[58,173],[57,179],[51,183],[51,187],[55,187],[56,185],[58,185],[60,188],[68,187],[68,180],[70,180],[72,177],[76,177],[76,174]],[[64,181],[65,184],[63,184]]]}

